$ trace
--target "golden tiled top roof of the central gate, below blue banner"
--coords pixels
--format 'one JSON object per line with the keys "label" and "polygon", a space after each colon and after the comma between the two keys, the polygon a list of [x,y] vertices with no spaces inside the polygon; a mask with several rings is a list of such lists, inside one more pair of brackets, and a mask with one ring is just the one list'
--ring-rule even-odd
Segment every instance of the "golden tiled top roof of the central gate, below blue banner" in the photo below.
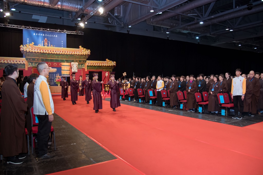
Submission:
{"label": "golden tiled top roof of the central gate, below blue banner", "polygon": [[67,55],[90,55],[90,50],[79,46],[79,49],[64,48],[64,47],[47,47],[47,46],[35,46],[32,42],[31,44],[21,45],[21,52],[24,54],[26,52],[35,53],[47,53],[47,54],[67,54]]}

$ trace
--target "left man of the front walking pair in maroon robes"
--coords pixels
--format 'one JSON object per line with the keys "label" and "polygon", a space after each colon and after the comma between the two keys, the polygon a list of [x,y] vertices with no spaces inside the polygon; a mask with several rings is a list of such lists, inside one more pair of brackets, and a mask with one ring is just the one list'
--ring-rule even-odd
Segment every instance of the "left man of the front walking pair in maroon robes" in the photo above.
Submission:
{"label": "left man of the front walking pair in maroon robes", "polygon": [[101,84],[103,81],[98,81],[98,72],[93,73],[94,80],[92,81],[92,96],[93,96],[93,110],[95,110],[95,113],[99,112],[99,109],[102,109],[102,97],[101,97]]}

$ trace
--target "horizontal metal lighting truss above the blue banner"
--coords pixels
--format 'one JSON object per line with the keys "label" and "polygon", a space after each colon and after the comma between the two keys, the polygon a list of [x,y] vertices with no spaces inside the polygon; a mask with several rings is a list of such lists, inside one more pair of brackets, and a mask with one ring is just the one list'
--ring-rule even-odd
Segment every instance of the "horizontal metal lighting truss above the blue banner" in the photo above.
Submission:
{"label": "horizontal metal lighting truss above the blue banner", "polygon": [[24,26],[24,25],[10,25],[10,24],[0,24],[1,27],[11,27],[11,28],[17,28],[17,29],[32,29],[32,30],[40,30],[40,31],[53,31],[53,32],[59,32],[59,33],[69,33],[69,34],[79,34],[84,35],[82,31],[68,31],[68,30],[59,30],[59,29],[44,29],[44,28],[37,28],[37,27],[31,27],[30,25]]}

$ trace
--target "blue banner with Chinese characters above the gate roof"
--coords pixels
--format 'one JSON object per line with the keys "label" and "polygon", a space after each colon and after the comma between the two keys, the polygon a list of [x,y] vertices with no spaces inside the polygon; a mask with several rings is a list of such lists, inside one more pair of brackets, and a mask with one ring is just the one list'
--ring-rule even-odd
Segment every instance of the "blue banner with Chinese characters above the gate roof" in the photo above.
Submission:
{"label": "blue banner with Chinese characters above the gate roof", "polygon": [[67,47],[67,34],[51,31],[23,29],[23,45]]}

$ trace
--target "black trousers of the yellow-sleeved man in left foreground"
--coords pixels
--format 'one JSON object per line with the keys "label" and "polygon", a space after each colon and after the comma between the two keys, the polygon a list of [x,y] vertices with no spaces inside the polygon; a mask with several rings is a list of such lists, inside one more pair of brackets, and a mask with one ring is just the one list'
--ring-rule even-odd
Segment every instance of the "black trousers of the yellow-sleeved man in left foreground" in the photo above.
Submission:
{"label": "black trousers of the yellow-sleeved man in left foreground", "polygon": [[48,153],[48,138],[51,131],[52,122],[48,121],[48,115],[37,115],[38,118],[38,132],[37,145],[38,155],[43,156]]}

